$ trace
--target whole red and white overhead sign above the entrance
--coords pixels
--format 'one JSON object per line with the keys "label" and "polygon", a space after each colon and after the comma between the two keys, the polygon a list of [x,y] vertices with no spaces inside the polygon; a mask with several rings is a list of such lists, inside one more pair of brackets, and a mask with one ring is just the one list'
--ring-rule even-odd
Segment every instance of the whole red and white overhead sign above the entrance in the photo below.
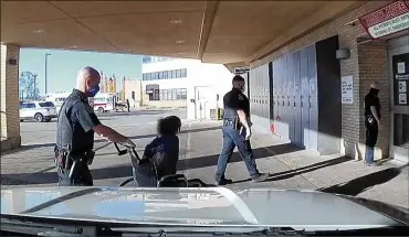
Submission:
{"label": "whole red and white overhead sign above the entrance", "polygon": [[409,1],[396,1],[359,18],[360,24],[374,37],[382,37],[409,29]]}

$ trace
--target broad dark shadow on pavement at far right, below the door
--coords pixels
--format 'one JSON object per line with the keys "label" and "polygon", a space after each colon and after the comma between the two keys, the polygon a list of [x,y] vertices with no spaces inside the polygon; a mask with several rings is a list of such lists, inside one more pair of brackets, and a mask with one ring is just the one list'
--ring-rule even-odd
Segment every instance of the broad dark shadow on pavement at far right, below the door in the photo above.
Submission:
{"label": "broad dark shadow on pavement at far right, below the door", "polygon": [[409,164],[405,164],[400,168],[388,168],[382,171],[374,172],[355,180],[339,183],[329,187],[323,187],[317,191],[325,192],[325,193],[336,193],[336,194],[345,194],[350,196],[356,196],[375,185],[379,185],[398,176],[405,168]]}

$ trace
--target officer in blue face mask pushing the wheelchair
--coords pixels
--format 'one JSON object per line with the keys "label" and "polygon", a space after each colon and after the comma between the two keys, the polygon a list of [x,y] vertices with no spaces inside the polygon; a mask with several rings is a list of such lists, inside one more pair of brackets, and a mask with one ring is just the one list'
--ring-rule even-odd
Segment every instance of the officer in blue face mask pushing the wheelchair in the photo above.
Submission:
{"label": "officer in blue face mask pushing the wheelchair", "polygon": [[94,160],[94,132],[117,143],[136,147],[129,139],[101,123],[88,98],[99,91],[99,73],[92,67],[78,72],[76,88],[65,99],[57,120],[55,165],[59,185],[92,186],[88,165]]}

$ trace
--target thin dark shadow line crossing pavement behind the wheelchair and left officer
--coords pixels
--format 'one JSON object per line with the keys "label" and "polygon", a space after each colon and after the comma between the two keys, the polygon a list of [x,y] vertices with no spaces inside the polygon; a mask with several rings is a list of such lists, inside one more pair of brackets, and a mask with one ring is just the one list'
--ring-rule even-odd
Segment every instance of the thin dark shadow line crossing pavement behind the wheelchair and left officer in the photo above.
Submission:
{"label": "thin dark shadow line crossing pavement behind the wheelchair and left officer", "polygon": [[[218,130],[218,129],[221,129],[221,126],[182,130],[182,131],[180,131],[180,133],[183,134],[183,133],[190,133],[190,132],[211,131],[211,130]],[[129,138],[132,138],[132,139],[144,139],[144,138],[155,138],[156,136],[157,136],[156,133],[153,133],[153,134],[138,134],[138,136],[133,136],[133,137],[129,137]],[[95,139],[94,142],[95,143],[107,142],[107,144],[102,146],[102,148],[107,147],[108,144],[111,144],[111,142],[108,142],[106,139]],[[21,146],[18,149],[13,149],[13,150],[10,150],[10,151],[1,152],[1,155],[13,154],[13,153],[18,153],[18,152],[25,151],[25,150],[36,149],[36,148],[53,148],[54,146],[55,146],[55,142],[52,142],[52,143],[41,143],[41,144]],[[95,149],[96,150],[99,150],[101,148],[95,148]]]}

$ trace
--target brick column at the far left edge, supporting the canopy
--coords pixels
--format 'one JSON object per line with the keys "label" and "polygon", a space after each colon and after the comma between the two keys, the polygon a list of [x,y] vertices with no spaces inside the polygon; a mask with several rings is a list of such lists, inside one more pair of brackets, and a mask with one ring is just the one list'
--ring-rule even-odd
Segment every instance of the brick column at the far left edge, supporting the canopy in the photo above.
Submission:
{"label": "brick column at the far left edge, supporting the canopy", "polygon": [[[19,118],[19,53],[15,45],[1,44],[1,150],[21,146]],[[15,60],[17,65],[10,63]]]}

